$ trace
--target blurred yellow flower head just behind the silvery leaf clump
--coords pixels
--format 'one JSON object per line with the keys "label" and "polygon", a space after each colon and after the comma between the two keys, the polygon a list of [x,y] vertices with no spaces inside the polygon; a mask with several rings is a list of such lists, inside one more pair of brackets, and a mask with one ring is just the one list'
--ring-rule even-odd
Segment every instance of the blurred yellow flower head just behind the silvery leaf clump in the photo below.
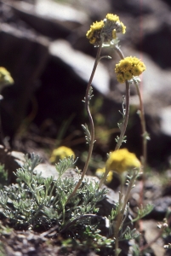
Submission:
{"label": "blurred yellow flower head just behind the silvery leaf clump", "polygon": [[75,158],[74,152],[71,150],[71,148],[67,148],[65,146],[61,146],[59,148],[55,148],[52,152],[52,155],[50,157],[50,162],[58,162],[59,160],[64,159],[65,157],[71,156]]}

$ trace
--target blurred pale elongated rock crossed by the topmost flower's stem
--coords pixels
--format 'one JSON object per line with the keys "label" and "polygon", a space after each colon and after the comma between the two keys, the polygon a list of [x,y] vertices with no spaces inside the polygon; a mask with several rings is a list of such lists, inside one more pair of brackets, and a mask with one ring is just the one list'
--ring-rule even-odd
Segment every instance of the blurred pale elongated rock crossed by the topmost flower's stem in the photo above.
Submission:
{"label": "blurred pale elongated rock crossed by the topmost flower's stem", "polygon": [[[50,44],[49,52],[52,56],[64,62],[73,73],[88,83],[88,79],[94,67],[94,58],[72,49],[71,44],[65,40],[57,40]],[[100,93],[106,95],[109,90],[110,76],[103,64],[99,64],[95,72],[92,85]]]}

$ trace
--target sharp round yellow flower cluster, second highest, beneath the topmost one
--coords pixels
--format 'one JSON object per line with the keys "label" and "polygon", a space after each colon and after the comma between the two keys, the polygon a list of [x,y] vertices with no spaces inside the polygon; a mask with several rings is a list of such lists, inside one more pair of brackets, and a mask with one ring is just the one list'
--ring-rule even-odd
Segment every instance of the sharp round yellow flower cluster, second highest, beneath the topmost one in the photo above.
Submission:
{"label": "sharp round yellow flower cluster, second highest, beneath the topmost one", "polygon": [[145,71],[145,64],[136,57],[126,57],[116,65],[117,81],[121,84]]}

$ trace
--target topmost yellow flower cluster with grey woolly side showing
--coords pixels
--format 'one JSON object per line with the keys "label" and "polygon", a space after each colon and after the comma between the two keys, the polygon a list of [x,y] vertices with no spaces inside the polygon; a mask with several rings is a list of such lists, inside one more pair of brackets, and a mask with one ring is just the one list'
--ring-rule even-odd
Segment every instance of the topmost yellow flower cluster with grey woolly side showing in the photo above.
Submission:
{"label": "topmost yellow flower cluster with grey woolly side showing", "polygon": [[119,20],[117,15],[107,14],[105,20],[96,21],[90,26],[86,37],[90,44],[100,45],[103,38],[104,44],[110,44],[112,39],[117,38],[117,33],[125,33],[126,26]]}

